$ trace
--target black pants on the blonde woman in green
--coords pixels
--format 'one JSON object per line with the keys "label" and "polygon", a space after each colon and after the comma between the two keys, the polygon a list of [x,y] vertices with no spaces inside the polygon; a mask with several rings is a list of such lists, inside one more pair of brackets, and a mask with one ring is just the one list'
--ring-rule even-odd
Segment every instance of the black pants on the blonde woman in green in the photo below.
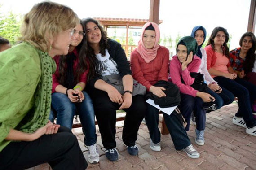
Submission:
{"label": "black pants on the blonde woman in green", "polygon": [[11,142],[0,152],[0,170],[23,170],[45,162],[53,170],[84,170],[88,166],[75,135],[64,126],[57,134],[31,142]]}

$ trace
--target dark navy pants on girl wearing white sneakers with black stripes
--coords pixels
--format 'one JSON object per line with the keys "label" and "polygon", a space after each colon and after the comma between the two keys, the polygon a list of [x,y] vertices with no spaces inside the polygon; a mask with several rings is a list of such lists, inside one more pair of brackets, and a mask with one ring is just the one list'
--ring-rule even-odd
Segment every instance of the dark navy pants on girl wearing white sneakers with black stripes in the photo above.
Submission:
{"label": "dark navy pants on girl wearing white sneakers with black stripes", "polygon": [[248,127],[256,126],[256,120],[252,117],[252,103],[256,99],[256,87],[241,78],[231,80],[217,76],[214,79],[221,87],[228,89],[234,96],[238,97],[238,112],[235,115],[243,117]]}

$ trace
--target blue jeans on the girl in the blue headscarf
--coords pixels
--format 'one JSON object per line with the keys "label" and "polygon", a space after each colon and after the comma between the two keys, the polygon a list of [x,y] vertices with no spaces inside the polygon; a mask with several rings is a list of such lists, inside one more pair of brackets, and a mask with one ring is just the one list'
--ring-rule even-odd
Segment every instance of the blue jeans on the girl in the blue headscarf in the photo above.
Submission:
{"label": "blue jeans on the girl in the blue headscarf", "polygon": [[211,89],[209,89],[208,91],[208,93],[215,98],[215,101],[213,103],[216,104],[217,109],[220,109],[224,105],[229,105],[234,101],[234,95],[224,87],[221,88],[221,93],[213,92]]}

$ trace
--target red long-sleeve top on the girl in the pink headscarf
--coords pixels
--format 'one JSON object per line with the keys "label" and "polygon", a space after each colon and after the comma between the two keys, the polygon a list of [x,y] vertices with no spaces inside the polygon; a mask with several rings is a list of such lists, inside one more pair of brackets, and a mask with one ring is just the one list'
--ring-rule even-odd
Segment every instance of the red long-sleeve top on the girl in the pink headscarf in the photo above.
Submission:
{"label": "red long-sleeve top on the girl in the pink headscarf", "polygon": [[169,50],[159,45],[154,60],[146,63],[137,50],[130,57],[132,77],[149,91],[150,87],[159,80],[168,81]]}

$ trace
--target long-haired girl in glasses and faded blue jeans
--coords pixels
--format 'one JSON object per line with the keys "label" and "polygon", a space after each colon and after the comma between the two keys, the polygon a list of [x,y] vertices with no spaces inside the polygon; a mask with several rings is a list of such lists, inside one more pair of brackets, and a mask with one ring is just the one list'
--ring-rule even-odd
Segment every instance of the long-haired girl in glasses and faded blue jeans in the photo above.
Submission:
{"label": "long-haired girl in glasses and faded blue jeans", "polygon": [[57,70],[53,74],[52,111],[50,120],[57,117],[57,124],[72,128],[74,115],[79,114],[83,126],[84,144],[89,150],[88,161],[99,162],[97,135],[93,103],[84,91],[90,65],[85,55],[84,29],[78,24],[74,29],[73,39],[68,54],[55,56]]}

